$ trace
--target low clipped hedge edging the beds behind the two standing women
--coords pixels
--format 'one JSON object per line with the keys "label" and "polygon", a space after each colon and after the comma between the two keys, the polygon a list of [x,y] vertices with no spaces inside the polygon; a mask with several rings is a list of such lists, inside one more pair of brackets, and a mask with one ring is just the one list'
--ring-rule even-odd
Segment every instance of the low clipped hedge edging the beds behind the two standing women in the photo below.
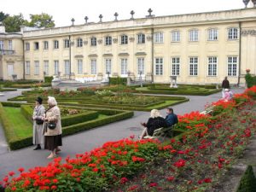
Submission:
{"label": "low clipped hedge edging the beds behind the two standing women", "polygon": [[[25,138],[18,138],[15,136],[14,130],[10,126],[9,118],[7,117],[7,114],[4,112],[3,106],[8,107],[15,107],[20,108],[22,106],[22,113],[26,115],[26,118],[31,118],[32,116],[32,108],[29,105],[24,105],[22,103],[14,103],[14,102],[3,102],[3,104],[0,102],[0,120],[3,124],[3,129],[5,132],[5,136],[7,139],[7,142],[9,143],[9,148],[11,150],[16,150],[20,148],[25,148],[32,145],[32,136],[28,136]],[[113,123],[115,121],[119,121],[121,119],[127,119],[131,118],[133,116],[133,112],[130,111],[119,111],[119,110],[109,110],[109,109],[96,109],[96,108],[82,108],[86,110],[90,110],[90,112],[87,113],[80,113],[78,115],[75,115],[76,119],[79,119],[80,121],[83,119],[87,120],[86,122],[82,122],[76,125],[70,125],[74,123],[74,121],[71,119],[74,115],[67,117],[65,123],[62,123],[62,135],[67,136],[74,133],[77,133],[79,131],[85,131],[89,130],[91,128],[95,128],[99,125],[106,125],[109,123]],[[20,109],[21,110],[21,109]],[[95,111],[97,110],[97,112]],[[106,114],[106,115],[113,115],[106,117],[104,119],[94,119],[92,120],[92,117],[98,117],[99,113]],[[63,126],[67,124],[68,126]]]}

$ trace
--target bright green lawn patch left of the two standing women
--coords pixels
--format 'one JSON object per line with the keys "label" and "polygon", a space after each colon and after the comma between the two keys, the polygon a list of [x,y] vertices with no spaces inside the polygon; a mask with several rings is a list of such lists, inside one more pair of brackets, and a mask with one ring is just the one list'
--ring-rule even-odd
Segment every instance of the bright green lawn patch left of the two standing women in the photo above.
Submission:
{"label": "bright green lawn patch left of the two standing women", "polygon": [[13,127],[16,137],[32,136],[32,122],[20,113],[20,108],[4,107],[4,111],[9,117],[10,125]]}

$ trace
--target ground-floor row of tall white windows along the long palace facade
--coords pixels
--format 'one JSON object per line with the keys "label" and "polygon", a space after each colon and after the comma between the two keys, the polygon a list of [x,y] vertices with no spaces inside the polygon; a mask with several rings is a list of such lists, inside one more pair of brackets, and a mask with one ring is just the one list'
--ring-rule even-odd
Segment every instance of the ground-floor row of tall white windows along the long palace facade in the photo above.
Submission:
{"label": "ground-floor row of tall white windows along the long palace facade", "polygon": [[[181,71],[180,57],[172,57],[172,75],[179,76]],[[189,76],[198,75],[198,57],[189,57]],[[96,59],[90,60],[90,73],[96,74]],[[164,59],[162,57],[154,58],[154,74],[163,75]],[[228,76],[237,75],[237,56],[228,57]],[[207,62],[207,75],[217,76],[218,68],[218,57],[210,56]],[[83,60],[77,60],[77,71],[78,74],[83,74]],[[54,61],[54,74],[57,75],[60,72],[59,61]],[[25,68],[26,75],[30,75],[30,61],[26,61]],[[49,61],[44,61],[44,73],[49,75]],[[68,75],[70,73],[70,62],[69,60],[64,60],[64,74]],[[112,59],[105,59],[105,74],[112,73]],[[126,58],[120,59],[120,73],[121,75],[127,75],[128,73],[128,60]],[[34,74],[39,75],[39,61],[34,61]],[[145,74],[144,58],[137,58],[137,74]]]}

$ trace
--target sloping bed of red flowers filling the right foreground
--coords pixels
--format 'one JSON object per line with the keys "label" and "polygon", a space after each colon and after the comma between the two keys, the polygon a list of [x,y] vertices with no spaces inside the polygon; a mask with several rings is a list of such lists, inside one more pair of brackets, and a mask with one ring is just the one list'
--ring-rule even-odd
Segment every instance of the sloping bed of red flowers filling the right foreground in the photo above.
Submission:
{"label": "sloping bed of red flowers filling the right foreground", "polygon": [[[48,166],[20,167],[20,173],[4,177],[3,186],[6,191],[223,191],[224,179],[255,134],[255,98],[253,86],[230,102],[211,103],[211,114],[179,116],[180,134],[165,143],[134,136],[109,141]],[[253,191],[253,184],[249,166],[238,191]]]}

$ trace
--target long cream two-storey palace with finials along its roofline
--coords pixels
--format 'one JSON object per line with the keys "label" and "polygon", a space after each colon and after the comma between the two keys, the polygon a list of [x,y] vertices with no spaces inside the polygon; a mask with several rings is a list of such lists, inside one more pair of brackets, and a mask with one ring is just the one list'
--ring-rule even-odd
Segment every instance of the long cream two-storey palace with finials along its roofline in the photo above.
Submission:
{"label": "long cream two-storey palace with finials along its roofline", "polygon": [[5,32],[0,26],[0,79],[60,76],[102,80],[150,78],[178,84],[244,84],[256,74],[256,8],[87,22]]}

